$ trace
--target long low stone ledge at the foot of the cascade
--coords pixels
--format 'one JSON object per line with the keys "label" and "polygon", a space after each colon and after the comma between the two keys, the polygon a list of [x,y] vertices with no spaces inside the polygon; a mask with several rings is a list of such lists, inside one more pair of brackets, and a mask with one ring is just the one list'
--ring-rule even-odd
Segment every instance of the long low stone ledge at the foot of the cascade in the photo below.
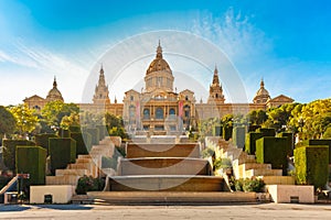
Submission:
{"label": "long low stone ledge at the foot of the cascade", "polygon": [[88,191],[87,196],[94,199],[95,202],[105,205],[228,205],[257,202],[256,193]]}

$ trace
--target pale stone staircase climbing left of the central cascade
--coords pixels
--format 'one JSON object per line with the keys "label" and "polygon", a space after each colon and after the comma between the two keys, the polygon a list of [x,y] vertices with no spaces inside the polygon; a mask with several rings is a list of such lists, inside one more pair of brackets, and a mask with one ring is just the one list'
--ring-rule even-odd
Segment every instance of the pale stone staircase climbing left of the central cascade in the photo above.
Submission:
{"label": "pale stone staircase climbing left of the central cascade", "polygon": [[102,157],[111,157],[114,144],[109,136],[94,145],[89,155],[78,155],[74,164],[68,164],[65,169],[56,169],[55,176],[46,176],[46,185],[72,185],[76,187],[79,177],[87,175],[94,178],[99,176]]}

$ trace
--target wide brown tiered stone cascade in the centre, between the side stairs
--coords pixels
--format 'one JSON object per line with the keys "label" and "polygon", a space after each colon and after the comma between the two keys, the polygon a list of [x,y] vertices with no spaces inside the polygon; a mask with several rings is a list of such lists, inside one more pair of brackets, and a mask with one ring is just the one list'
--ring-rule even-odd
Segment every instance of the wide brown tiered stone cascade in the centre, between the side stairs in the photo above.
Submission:
{"label": "wide brown tiered stone cascade in the centre, between the side stairs", "polygon": [[[141,140],[140,140],[141,141]],[[89,191],[95,201],[120,205],[203,205],[256,202],[255,193],[231,193],[214,176],[199,143],[129,143],[115,176],[104,191]]]}

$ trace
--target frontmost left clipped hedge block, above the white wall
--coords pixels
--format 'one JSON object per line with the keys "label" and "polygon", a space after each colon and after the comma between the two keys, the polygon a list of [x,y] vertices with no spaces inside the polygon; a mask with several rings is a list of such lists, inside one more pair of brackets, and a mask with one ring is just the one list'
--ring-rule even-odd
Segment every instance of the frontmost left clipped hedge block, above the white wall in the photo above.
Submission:
{"label": "frontmost left clipped hedge block, above the white wall", "polygon": [[28,185],[44,185],[47,151],[41,146],[18,146],[17,173],[29,174]]}

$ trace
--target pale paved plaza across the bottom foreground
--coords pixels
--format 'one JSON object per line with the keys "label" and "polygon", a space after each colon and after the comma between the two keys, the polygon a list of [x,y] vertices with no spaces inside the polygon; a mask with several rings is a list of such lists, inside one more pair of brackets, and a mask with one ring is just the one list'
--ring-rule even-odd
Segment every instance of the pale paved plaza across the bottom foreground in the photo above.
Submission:
{"label": "pale paved plaza across the bottom foreground", "polygon": [[331,205],[0,206],[0,219],[331,219]]}

